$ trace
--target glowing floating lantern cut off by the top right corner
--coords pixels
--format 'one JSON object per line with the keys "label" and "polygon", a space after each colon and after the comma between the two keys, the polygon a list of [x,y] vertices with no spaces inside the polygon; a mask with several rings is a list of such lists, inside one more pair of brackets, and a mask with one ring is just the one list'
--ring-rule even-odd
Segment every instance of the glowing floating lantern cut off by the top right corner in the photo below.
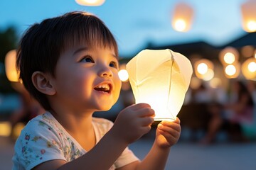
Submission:
{"label": "glowing floating lantern cut off by the top right corner", "polygon": [[242,28],[247,32],[256,31],[256,1],[246,1],[241,6]]}

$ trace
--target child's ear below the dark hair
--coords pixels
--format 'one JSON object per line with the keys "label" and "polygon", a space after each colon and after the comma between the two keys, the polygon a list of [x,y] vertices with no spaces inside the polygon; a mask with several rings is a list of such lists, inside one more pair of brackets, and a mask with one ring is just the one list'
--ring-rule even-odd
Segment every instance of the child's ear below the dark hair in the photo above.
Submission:
{"label": "child's ear below the dark hair", "polygon": [[56,93],[54,86],[50,83],[50,76],[43,72],[34,72],[32,74],[32,82],[38,91],[47,95]]}

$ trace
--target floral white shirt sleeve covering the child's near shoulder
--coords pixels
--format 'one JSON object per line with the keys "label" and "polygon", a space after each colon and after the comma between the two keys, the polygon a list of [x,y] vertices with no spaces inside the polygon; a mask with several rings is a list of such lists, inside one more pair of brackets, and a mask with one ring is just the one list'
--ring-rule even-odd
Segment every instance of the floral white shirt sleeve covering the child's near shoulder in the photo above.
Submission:
{"label": "floral white shirt sleeve covering the child's near shoulder", "polygon": [[50,125],[41,121],[28,123],[16,141],[17,162],[24,169],[33,169],[33,167],[53,159],[66,161],[65,151],[63,151],[60,143],[58,134],[53,131]]}

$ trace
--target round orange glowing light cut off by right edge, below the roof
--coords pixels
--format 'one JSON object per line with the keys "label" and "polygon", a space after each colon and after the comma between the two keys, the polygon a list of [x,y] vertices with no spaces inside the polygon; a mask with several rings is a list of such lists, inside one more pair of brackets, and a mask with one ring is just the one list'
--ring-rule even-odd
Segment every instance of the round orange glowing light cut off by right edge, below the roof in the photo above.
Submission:
{"label": "round orange glowing light cut off by right edge, below the roof", "polygon": [[242,63],[242,74],[245,79],[256,80],[256,59],[254,57]]}

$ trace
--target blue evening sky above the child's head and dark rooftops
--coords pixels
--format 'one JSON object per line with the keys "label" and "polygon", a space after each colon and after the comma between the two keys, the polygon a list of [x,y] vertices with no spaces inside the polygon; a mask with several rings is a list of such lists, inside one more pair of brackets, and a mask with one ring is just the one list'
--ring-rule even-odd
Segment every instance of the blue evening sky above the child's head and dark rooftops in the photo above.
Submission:
{"label": "blue evening sky above the child's head and dark rooftops", "polygon": [[16,26],[18,35],[33,23],[68,11],[89,11],[112,30],[120,55],[130,55],[153,45],[175,45],[204,40],[223,45],[245,32],[240,5],[245,0],[183,0],[194,9],[187,33],[171,27],[171,13],[181,0],[106,0],[102,6],[80,6],[75,0],[0,0],[0,30]]}

